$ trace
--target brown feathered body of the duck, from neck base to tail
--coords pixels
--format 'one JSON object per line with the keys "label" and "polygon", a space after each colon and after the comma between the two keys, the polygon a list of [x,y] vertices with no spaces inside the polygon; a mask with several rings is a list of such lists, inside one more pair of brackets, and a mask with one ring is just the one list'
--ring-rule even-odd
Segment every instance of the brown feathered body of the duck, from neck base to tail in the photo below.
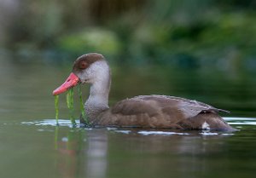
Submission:
{"label": "brown feathered body of the duck, from neck base to tail", "polygon": [[218,116],[224,110],[195,100],[166,95],[142,95],[121,100],[96,119],[97,125],[159,129],[232,130]]}

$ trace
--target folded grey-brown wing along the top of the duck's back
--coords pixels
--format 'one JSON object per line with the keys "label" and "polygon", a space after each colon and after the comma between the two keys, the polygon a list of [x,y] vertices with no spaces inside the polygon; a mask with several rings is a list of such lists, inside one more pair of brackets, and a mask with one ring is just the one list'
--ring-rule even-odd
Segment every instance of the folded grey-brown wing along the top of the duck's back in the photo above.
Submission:
{"label": "folded grey-brown wing along the top of the duck's back", "polygon": [[223,109],[207,105],[206,103],[187,100],[175,96],[166,95],[141,95],[127,100],[121,100],[113,106],[113,113],[125,115],[148,113],[154,115],[155,112],[166,111],[182,112],[185,118],[195,117],[200,112],[226,112]]}

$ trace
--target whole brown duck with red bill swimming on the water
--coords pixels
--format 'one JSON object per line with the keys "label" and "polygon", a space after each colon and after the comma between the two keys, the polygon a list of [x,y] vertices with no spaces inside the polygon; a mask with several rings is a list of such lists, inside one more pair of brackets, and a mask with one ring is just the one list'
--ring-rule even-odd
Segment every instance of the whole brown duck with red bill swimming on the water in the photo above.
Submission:
{"label": "whole brown duck with red bill swimming on the water", "polygon": [[[228,111],[176,96],[138,95],[109,107],[111,71],[108,61],[98,53],[79,56],[67,80],[53,91],[53,95],[60,95],[79,83],[90,84],[90,95],[84,103],[84,110],[92,126],[236,130],[218,115]],[[83,123],[83,120],[80,122]]]}

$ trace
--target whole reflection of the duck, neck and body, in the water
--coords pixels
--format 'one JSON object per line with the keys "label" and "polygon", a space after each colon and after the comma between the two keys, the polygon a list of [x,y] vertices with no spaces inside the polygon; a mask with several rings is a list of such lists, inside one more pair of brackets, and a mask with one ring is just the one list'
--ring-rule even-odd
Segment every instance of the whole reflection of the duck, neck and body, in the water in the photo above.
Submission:
{"label": "whole reflection of the duck, neck and body, in the water", "polygon": [[218,167],[212,158],[227,150],[227,136],[205,137],[198,132],[140,135],[138,130],[66,129],[63,133],[55,134],[56,161],[61,177],[68,178],[102,178],[124,172],[130,177],[170,172],[174,177],[188,177],[189,172],[204,175]]}

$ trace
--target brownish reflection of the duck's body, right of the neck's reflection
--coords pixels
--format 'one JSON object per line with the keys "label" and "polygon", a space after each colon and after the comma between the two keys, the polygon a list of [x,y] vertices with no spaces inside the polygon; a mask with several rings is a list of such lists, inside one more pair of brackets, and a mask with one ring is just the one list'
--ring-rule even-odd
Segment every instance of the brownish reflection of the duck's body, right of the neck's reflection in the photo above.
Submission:
{"label": "brownish reflection of the duck's body, right of the neck's reflection", "polygon": [[[160,132],[163,134],[160,135]],[[110,171],[125,172],[125,168],[129,168],[131,172],[126,177],[196,177],[190,175],[191,172],[203,175],[211,169],[211,155],[224,152],[224,138],[228,138],[221,133],[204,136],[198,131],[183,134],[177,130],[154,129],[135,129],[130,134],[118,133],[117,137],[115,142],[122,144],[115,146],[115,151],[122,152],[111,150],[109,154],[115,158],[126,158]],[[110,162],[113,163],[113,160],[110,158]]]}

